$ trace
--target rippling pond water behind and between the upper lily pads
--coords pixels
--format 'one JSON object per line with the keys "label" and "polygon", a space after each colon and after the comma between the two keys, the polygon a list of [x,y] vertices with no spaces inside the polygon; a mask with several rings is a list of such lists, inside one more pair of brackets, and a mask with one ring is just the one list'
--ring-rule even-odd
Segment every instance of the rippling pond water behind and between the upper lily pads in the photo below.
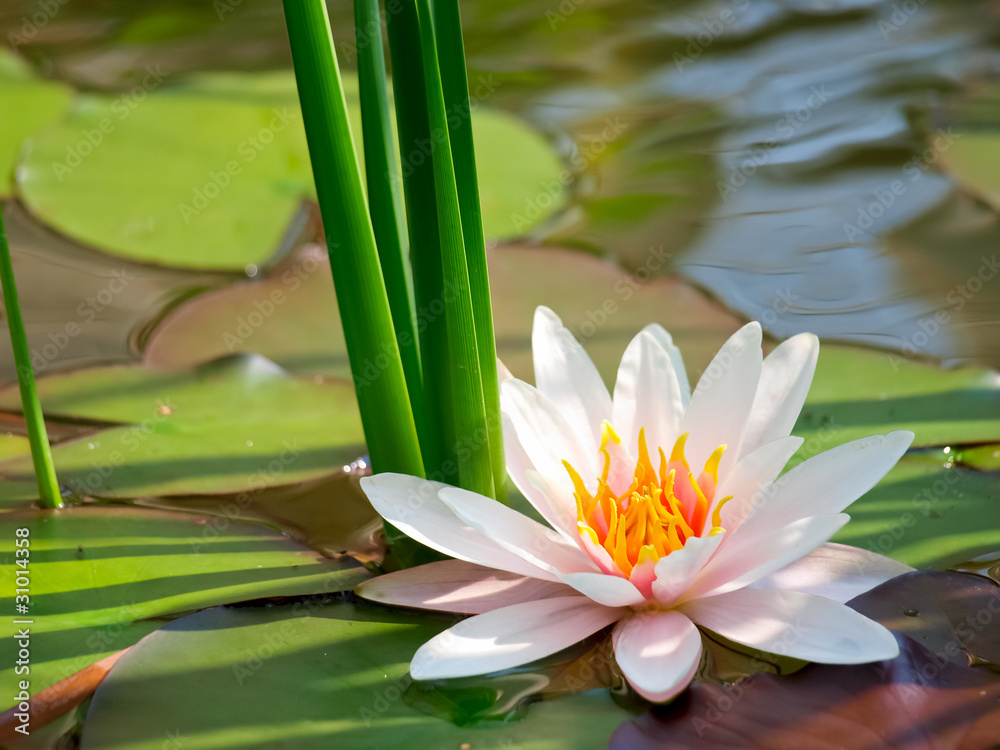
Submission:
{"label": "rippling pond water behind and between the upper lily pads", "polygon": [[[5,2],[0,31],[80,90],[127,91],[150,67],[174,85],[290,66],[276,1],[52,5]],[[951,168],[963,139],[1000,140],[1000,4],[462,8],[474,100],[534,124],[572,167],[570,199],[529,242],[610,257],[640,278],[679,273],[777,338],[812,331],[948,366],[1000,364],[997,204]],[[331,19],[351,68],[350,3],[333,3]],[[546,200],[524,197],[526,225]],[[87,284],[122,264],[15,204],[8,216],[41,345]],[[135,358],[165,307],[234,280],[135,271],[132,292],[95,316],[100,332],[58,352],[53,369]]]}

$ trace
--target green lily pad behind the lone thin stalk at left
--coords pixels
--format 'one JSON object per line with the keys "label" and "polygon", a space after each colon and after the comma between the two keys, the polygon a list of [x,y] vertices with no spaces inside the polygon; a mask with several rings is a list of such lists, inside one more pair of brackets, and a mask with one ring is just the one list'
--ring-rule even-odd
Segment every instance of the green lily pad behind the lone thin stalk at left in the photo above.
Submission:
{"label": "green lily pad behind the lone thin stalk at left", "polygon": [[[262,357],[84,370],[38,390],[50,419],[105,428],[53,448],[60,482],[82,496],[253,492],[331,474],[364,450],[350,384],[296,380]],[[0,409],[20,410],[16,388],[0,391]],[[37,497],[30,458],[0,462],[0,486],[8,507]]]}

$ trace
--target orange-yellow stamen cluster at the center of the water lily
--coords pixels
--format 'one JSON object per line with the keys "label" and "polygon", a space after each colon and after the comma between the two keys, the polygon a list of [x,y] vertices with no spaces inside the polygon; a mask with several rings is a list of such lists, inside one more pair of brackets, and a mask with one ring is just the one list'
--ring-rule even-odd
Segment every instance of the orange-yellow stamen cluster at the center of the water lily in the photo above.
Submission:
{"label": "orange-yellow stamen cluster at the center of the water lily", "polygon": [[[668,459],[659,449],[659,470],[653,467],[646,446],[645,431],[639,431],[639,459],[628,489],[616,494],[609,484],[612,457],[610,441],[621,443],[607,422],[603,427],[601,452],[604,470],[597,480],[597,490],[591,494],[584,486],[580,474],[567,462],[563,465],[573,480],[576,497],[577,527],[582,535],[589,536],[595,544],[608,551],[615,565],[628,577],[637,565],[652,561],[679,550],[692,536],[705,536],[706,522],[711,510],[712,525],[708,535],[723,533],[719,513],[730,500],[723,498],[715,503],[715,490],[719,481],[719,462],[726,450],[720,445],[705,463],[698,477],[684,457],[687,433],[674,444]],[[611,479],[619,487],[624,479]]]}

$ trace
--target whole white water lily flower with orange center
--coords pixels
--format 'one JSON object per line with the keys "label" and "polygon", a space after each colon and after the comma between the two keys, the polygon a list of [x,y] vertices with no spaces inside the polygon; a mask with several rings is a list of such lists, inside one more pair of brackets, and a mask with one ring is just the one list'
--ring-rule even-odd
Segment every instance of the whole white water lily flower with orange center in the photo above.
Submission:
{"label": "whole white water lily flower with orange center", "polygon": [[535,315],[532,387],[501,386],[510,476],[549,524],[472,492],[400,474],[362,480],[378,512],[455,560],[380,576],[359,593],[476,615],[424,644],[415,679],[485,674],[602,628],[646,698],[682,691],[698,628],[828,664],[898,655],[881,625],[843,602],[907,566],[824,544],[903,455],[910,432],[833,448],[780,479],[819,344],[801,334],[767,359],[751,323],[690,392],[660,326],[622,358],[614,397],[559,318]]}

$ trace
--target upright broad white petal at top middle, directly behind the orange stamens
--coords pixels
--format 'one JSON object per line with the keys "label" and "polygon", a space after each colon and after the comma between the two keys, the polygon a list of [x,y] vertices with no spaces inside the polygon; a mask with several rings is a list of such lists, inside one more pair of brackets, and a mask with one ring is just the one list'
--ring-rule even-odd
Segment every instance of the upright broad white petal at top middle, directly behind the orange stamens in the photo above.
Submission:
{"label": "upright broad white petal at top middle, directly behind the orange stamens", "polygon": [[641,331],[625,350],[618,379],[611,423],[630,451],[645,429],[652,455],[657,448],[669,452],[680,434],[684,403],[670,356],[647,331]]}

